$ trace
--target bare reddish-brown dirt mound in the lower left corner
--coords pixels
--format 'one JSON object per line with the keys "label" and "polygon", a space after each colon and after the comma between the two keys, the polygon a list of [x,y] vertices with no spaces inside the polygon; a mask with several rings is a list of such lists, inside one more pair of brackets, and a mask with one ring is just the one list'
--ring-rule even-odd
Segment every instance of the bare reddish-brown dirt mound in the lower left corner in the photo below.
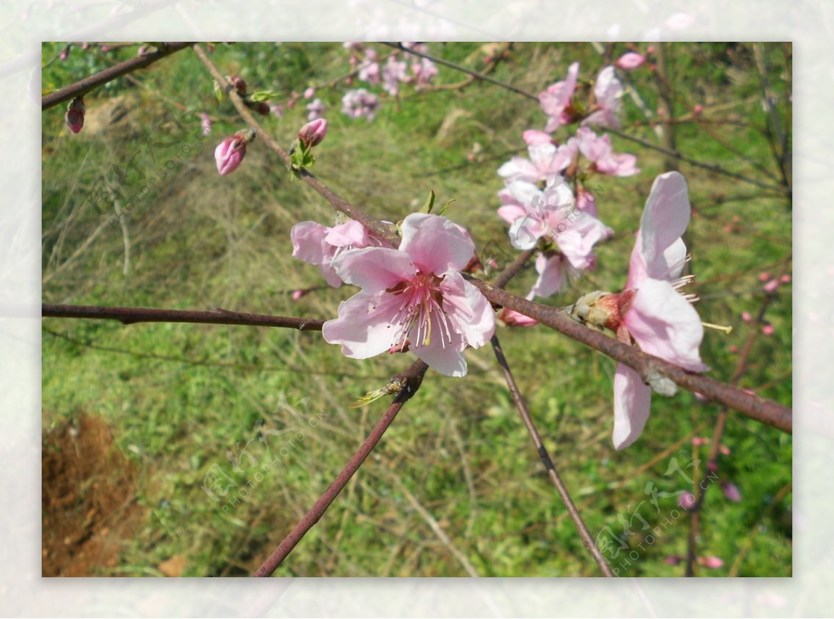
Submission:
{"label": "bare reddish-brown dirt mound in the lower left corner", "polygon": [[43,576],[102,576],[118,566],[142,521],[133,469],[99,417],[83,415],[43,436]]}

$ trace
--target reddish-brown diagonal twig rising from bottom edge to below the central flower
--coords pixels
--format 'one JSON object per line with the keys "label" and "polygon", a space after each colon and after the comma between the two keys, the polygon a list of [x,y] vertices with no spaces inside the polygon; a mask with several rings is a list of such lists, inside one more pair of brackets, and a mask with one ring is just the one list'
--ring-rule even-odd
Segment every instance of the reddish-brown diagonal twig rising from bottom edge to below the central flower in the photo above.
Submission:
{"label": "reddish-brown diagonal twig rising from bottom edge to below the central flower", "polygon": [[324,491],[324,494],[319,497],[319,500],[315,502],[314,506],[310,508],[299,523],[294,526],[294,529],[289,531],[289,534],[284,537],[284,540],[282,540],[278,547],[272,551],[272,554],[270,554],[267,560],[264,561],[264,564],[254,572],[253,576],[270,576],[278,568],[278,566],[281,565],[289,553],[293,551],[295,546],[298,545],[299,541],[301,541],[301,538],[304,537],[307,531],[312,529],[321,517],[324,516],[324,512],[327,511],[327,508],[335,500],[336,496],[339,496],[339,492],[341,492],[344,486],[347,485],[350,478],[354,476],[354,473],[359,470],[359,466],[362,466],[365,458],[370,455],[371,450],[374,449],[374,446],[376,446],[379,442],[379,439],[382,438],[385,430],[388,430],[389,425],[391,425],[391,422],[394,421],[394,417],[397,416],[399,410],[420,388],[420,383],[423,381],[425,370],[428,369],[429,366],[425,365],[423,361],[416,361],[413,365],[411,365],[411,367],[409,367],[408,370],[405,370],[402,374],[394,377],[404,383],[404,389],[399,391],[399,394],[394,399],[394,402],[388,407],[388,410],[386,410],[385,414],[382,415],[382,418],[379,420],[377,425],[375,425],[374,429],[371,430],[368,438],[366,438],[362,445],[359,446],[359,450],[357,450],[353,457],[350,458],[348,463],[344,466],[344,469],[339,472],[339,475],[336,476],[336,479],[332,484],[330,484],[329,488]]}

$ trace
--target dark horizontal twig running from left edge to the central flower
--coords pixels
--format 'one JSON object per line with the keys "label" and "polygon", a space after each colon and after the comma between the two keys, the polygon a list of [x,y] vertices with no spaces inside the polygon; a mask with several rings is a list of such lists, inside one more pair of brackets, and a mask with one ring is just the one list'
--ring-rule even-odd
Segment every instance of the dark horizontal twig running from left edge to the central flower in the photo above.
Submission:
{"label": "dark horizontal twig running from left edge to the central flower", "polygon": [[63,305],[44,303],[41,315],[53,318],[93,318],[118,320],[123,325],[138,322],[187,322],[206,325],[249,325],[253,327],[284,327],[299,331],[320,331],[324,320],[291,318],[264,314],[245,314],[229,309],[192,311],[144,307],[103,307],[100,305]]}

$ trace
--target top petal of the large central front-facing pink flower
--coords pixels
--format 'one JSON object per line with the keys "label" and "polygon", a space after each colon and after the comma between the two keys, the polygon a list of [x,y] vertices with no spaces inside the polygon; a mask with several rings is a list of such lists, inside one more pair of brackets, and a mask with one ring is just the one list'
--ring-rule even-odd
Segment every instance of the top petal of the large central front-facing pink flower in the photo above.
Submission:
{"label": "top petal of the large central front-facing pink flower", "polygon": [[403,219],[402,232],[399,250],[409,254],[423,273],[442,275],[460,271],[475,254],[475,244],[469,235],[445,217],[412,213]]}

